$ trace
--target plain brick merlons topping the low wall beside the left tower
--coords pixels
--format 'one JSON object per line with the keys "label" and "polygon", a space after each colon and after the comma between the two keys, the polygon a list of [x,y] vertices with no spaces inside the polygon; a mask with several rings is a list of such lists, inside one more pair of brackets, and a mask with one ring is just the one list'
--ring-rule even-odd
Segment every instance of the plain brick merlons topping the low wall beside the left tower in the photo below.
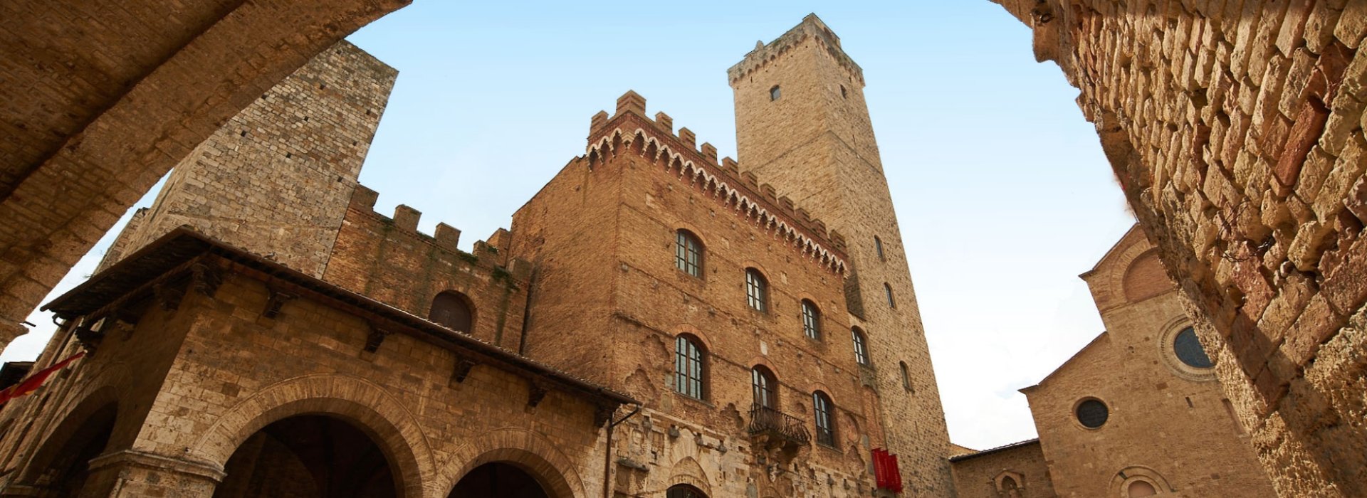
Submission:
{"label": "plain brick merlons topping the low wall beside the left tower", "polygon": [[476,240],[473,252],[465,252],[457,248],[457,244],[461,241],[461,229],[446,222],[437,222],[436,231],[432,235],[422,233],[418,231],[418,221],[422,218],[422,211],[407,205],[398,205],[394,207],[394,216],[380,214],[375,210],[375,202],[379,196],[380,194],[375,190],[357,184],[355,191],[351,192],[349,209],[377,218],[381,222],[392,225],[396,232],[407,233],[436,248],[452,252],[462,259],[489,261],[492,266],[506,267],[514,273],[514,278],[517,280],[525,280],[525,273],[530,273],[532,263],[518,258],[509,258],[507,246],[511,233],[507,229],[499,228],[487,240]]}

